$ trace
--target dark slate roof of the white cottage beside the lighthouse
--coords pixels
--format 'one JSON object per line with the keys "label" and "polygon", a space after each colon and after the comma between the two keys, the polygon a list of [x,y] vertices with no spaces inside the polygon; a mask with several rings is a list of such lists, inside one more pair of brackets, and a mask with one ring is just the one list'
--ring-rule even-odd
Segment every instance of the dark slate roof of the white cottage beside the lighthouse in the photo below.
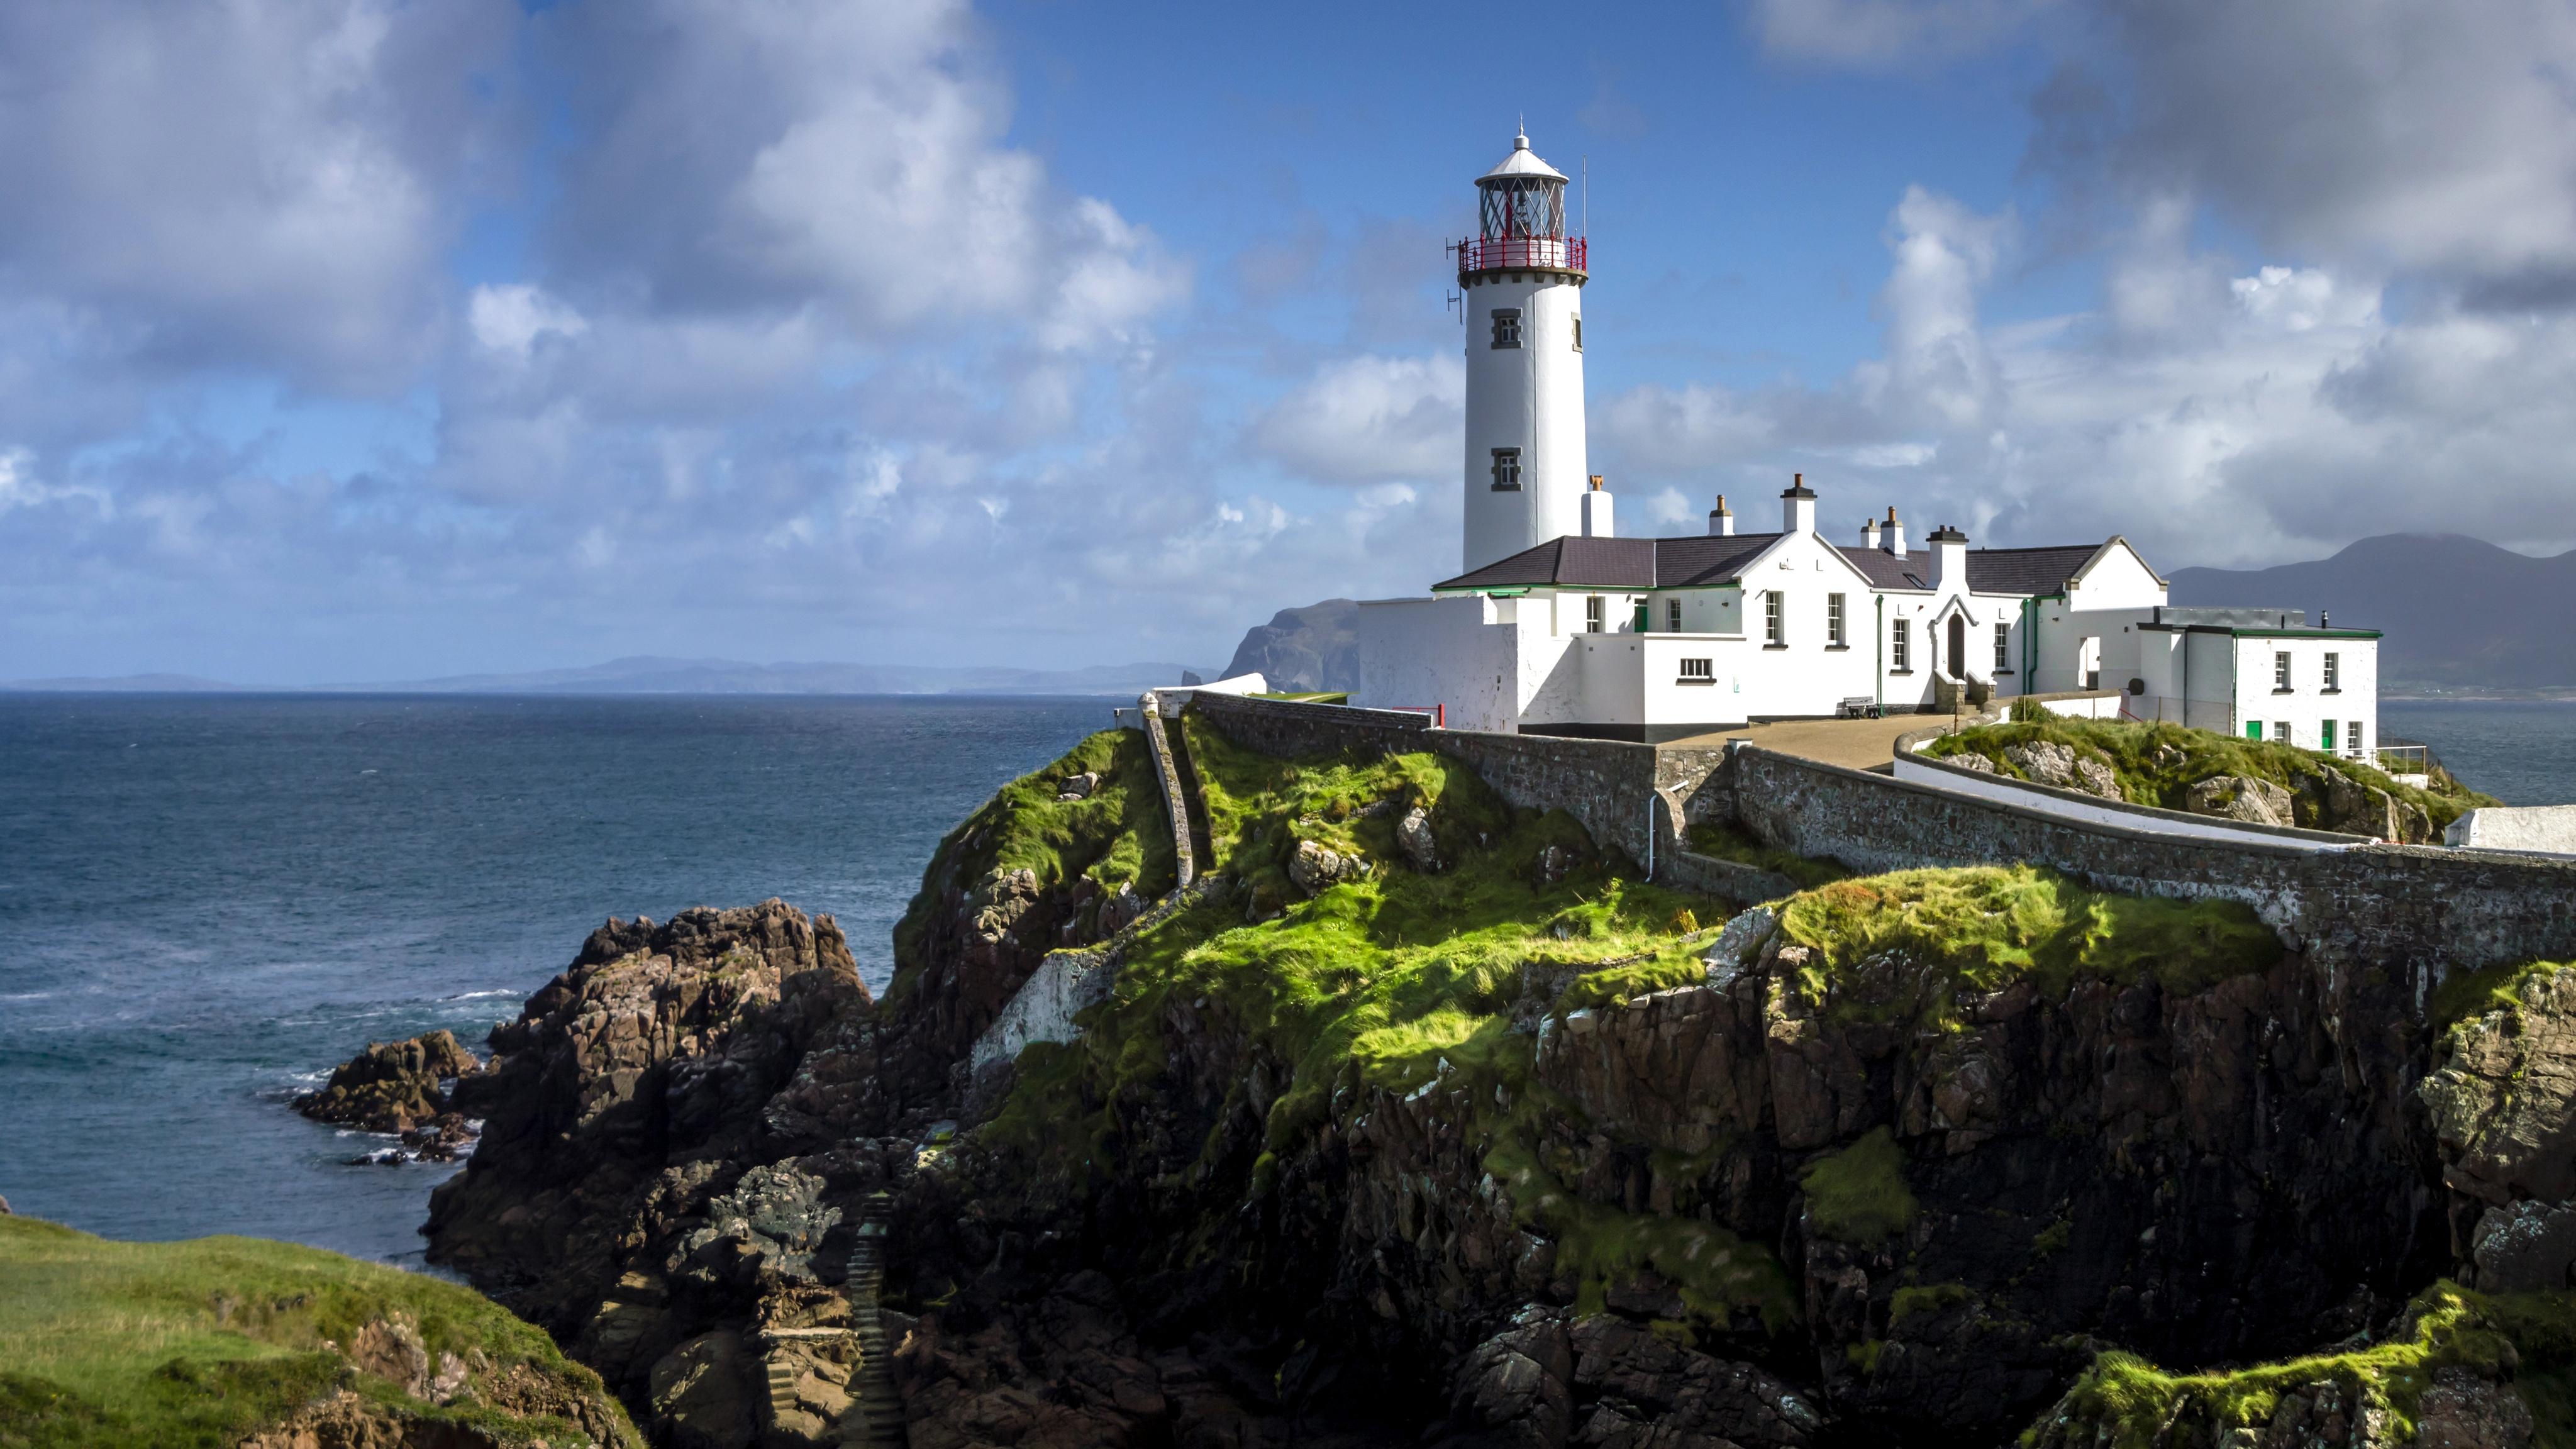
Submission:
{"label": "dark slate roof of the white cottage beside the lighthouse", "polygon": [[[1682,539],[1548,539],[1432,588],[1708,588],[1734,583],[1780,534],[1692,534]],[[1932,588],[1932,552],[1891,554],[1834,544],[1875,588]],[[2102,544],[2045,549],[1968,549],[1976,593],[2056,593]]]}

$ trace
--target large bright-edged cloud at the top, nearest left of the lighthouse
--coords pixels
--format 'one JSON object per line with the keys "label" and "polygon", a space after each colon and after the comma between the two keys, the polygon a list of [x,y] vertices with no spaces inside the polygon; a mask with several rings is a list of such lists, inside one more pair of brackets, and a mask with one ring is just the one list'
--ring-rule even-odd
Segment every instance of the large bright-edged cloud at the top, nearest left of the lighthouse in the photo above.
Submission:
{"label": "large bright-edged cloud at the top, nearest left of the lighthouse", "polygon": [[595,144],[559,271],[659,307],[829,299],[866,330],[1023,322],[1115,345],[1188,273],[1110,204],[1005,144],[1010,90],[958,0],[567,8]]}

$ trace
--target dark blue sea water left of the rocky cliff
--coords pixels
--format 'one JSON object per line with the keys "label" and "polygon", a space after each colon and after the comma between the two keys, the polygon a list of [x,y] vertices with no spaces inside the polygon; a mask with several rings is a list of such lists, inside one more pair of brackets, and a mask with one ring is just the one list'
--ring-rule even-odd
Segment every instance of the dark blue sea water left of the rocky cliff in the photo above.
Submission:
{"label": "dark blue sea water left of the rocky cliff", "polygon": [[453,1165],[286,1109],[479,1044],[608,915],[778,895],[871,987],[940,835],[1105,699],[0,696],[0,1196],[420,1258]]}

